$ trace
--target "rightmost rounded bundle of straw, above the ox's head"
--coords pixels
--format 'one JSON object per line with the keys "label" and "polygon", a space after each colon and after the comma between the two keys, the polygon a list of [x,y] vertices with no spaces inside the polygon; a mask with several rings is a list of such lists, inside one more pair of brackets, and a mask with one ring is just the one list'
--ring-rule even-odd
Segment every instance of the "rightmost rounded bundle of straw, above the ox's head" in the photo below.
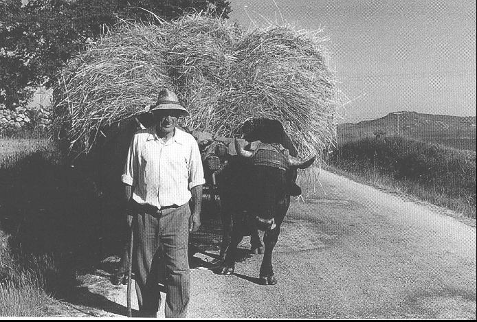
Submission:
{"label": "rightmost rounded bundle of straw, above the ox's head", "polygon": [[234,90],[224,104],[234,111],[231,124],[250,115],[280,119],[302,153],[320,153],[333,141],[338,95],[318,34],[270,26],[236,44]]}

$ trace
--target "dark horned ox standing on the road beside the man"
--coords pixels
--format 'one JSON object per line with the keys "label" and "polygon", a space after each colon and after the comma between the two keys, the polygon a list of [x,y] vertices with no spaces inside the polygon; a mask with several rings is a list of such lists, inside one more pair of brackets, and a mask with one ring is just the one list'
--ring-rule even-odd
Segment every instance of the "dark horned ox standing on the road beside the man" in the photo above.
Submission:
{"label": "dark horned ox standing on the road beside the man", "polygon": [[[282,132],[288,138],[283,130]],[[266,135],[258,135],[254,139],[258,141],[250,143],[248,150],[234,140],[237,155],[230,159],[219,178],[224,235],[221,249],[223,262],[218,269],[223,275],[234,273],[236,249],[244,235],[251,235],[252,250],[261,253],[263,248],[257,230],[260,229],[265,231],[260,283],[273,285],[276,284],[276,277],[271,264],[271,253],[290,205],[293,189],[289,187],[296,187],[296,170],[308,168],[315,157],[303,162],[291,156],[289,150],[282,145],[288,145],[287,142],[280,138],[275,138],[276,142],[270,142],[270,137],[267,138]],[[296,192],[296,188],[294,191]]]}

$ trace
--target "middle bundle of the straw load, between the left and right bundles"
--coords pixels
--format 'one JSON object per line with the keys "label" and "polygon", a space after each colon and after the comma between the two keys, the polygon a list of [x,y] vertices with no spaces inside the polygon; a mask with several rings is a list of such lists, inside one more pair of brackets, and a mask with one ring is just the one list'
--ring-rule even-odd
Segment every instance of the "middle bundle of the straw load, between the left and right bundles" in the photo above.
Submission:
{"label": "middle bundle of the straw load, between the left and right bundles", "polygon": [[168,75],[190,111],[186,125],[213,132],[222,114],[219,102],[234,64],[238,30],[220,19],[196,15],[169,25],[168,35]]}

